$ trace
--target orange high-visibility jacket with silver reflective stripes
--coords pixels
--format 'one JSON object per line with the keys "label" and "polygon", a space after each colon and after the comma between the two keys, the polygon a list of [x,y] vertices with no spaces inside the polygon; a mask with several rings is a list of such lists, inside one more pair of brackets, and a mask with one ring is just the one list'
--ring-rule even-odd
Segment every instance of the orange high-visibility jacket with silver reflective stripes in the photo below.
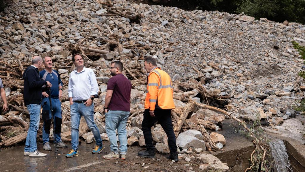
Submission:
{"label": "orange high-visibility jacket with silver reflective stripes", "polygon": [[161,109],[174,109],[173,84],[170,76],[159,67],[148,75],[145,109],[155,110],[156,103]]}

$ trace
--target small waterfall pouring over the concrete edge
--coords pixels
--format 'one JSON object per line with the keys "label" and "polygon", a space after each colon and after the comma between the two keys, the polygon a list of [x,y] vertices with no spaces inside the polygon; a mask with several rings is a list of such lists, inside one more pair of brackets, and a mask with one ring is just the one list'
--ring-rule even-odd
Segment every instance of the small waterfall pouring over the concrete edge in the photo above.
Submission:
{"label": "small waterfall pouring over the concrete edge", "polygon": [[277,172],[292,172],[288,154],[283,140],[271,140],[269,142]]}

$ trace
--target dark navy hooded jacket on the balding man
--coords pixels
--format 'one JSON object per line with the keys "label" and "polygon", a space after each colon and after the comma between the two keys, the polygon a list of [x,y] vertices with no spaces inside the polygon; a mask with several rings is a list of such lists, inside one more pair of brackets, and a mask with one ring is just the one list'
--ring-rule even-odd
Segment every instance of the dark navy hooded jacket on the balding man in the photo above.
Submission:
{"label": "dark navy hooded jacket on the balding man", "polygon": [[39,78],[38,68],[33,66],[25,69],[23,76],[23,101],[24,105],[40,104],[42,96],[42,86],[47,84],[47,81]]}

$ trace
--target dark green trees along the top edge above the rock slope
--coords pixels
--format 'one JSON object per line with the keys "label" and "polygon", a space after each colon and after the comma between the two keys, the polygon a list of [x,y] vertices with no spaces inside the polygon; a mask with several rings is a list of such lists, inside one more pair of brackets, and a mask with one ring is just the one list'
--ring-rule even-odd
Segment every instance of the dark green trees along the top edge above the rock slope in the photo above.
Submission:
{"label": "dark green trees along the top edge above the rock slope", "polygon": [[168,6],[194,10],[220,11],[246,15],[256,19],[305,24],[305,0],[171,0]]}

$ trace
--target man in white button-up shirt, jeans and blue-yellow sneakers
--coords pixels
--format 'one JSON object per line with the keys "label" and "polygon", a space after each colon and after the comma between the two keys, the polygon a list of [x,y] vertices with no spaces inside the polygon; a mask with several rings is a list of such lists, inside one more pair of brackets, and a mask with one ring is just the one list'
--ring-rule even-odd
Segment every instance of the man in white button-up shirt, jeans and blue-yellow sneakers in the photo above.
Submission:
{"label": "man in white button-up shirt, jeans and blue-yellow sneakers", "polygon": [[78,156],[78,128],[81,116],[84,116],[88,128],[92,131],[96,140],[96,147],[92,153],[100,153],[105,148],[102,144],[99,129],[94,122],[93,99],[99,91],[95,74],[92,69],[84,67],[84,60],[81,54],[74,54],[72,61],[76,66],[76,70],[70,73],[68,89],[71,111],[72,149],[66,155],[67,158]]}

